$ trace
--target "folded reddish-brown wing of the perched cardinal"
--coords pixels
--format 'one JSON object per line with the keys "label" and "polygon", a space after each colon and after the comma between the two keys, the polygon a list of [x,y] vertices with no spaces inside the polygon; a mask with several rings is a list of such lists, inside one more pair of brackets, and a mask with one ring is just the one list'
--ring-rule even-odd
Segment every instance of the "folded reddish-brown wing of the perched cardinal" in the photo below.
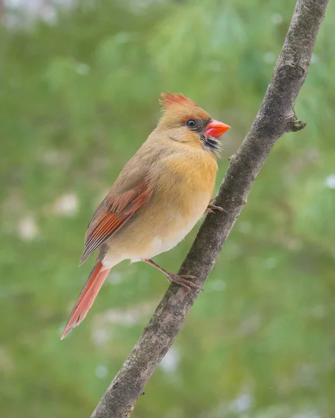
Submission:
{"label": "folded reddish-brown wing of the perched cardinal", "polygon": [[153,189],[144,180],[136,187],[114,195],[107,195],[93,215],[85,235],[85,247],[80,263],[84,263],[95,249],[118,231],[149,199]]}

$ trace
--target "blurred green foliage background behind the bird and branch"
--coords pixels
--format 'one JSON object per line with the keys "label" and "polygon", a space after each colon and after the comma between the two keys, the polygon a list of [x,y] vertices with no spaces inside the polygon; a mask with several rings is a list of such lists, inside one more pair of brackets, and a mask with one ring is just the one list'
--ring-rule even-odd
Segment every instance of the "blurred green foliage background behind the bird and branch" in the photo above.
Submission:
{"label": "blurred green foliage background behind the bird and branch", "polygon": [[[233,127],[219,186],[295,1],[0,4],[1,416],[89,417],[167,286],[121,263],[60,340],[94,263],[78,268],[93,210],[162,91]],[[297,100],[306,129],[274,147],[134,418],[335,417],[334,21],[331,1]],[[176,272],[196,229],[157,261]]]}

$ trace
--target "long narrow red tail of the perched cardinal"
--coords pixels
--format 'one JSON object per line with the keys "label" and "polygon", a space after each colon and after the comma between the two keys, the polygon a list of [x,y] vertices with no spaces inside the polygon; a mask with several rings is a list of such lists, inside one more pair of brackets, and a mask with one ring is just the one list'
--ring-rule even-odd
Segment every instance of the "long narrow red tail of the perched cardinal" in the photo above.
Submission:
{"label": "long narrow red tail of the perched cardinal", "polygon": [[98,263],[95,264],[91,274],[88,276],[85,287],[81,291],[75,307],[72,309],[70,318],[68,318],[68,323],[65,326],[61,339],[63,339],[72,330],[73,327],[77,327],[77,325],[81,323],[91,308],[95,297],[98,295],[104,280],[111,270],[110,268],[107,270],[102,270],[102,268],[102,262],[98,261]]}

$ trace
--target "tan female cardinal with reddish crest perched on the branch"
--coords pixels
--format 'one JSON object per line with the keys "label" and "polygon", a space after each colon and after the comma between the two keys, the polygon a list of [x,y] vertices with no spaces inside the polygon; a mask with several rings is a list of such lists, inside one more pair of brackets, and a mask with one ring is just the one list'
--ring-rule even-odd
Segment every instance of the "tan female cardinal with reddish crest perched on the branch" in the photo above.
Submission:
{"label": "tan female cardinal with reddish crest perched on the branch", "polygon": [[120,261],[144,261],[170,282],[198,288],[194,276],[166,272],[152,258],[183,240],[206,210],[222,210],[210,203],[219,137],[231,127],[182,93],[162,93],[159,104],[157,127],[125,164],[88,224],[80,265],[96,249],[98,258],[61,339],[84,320]]}

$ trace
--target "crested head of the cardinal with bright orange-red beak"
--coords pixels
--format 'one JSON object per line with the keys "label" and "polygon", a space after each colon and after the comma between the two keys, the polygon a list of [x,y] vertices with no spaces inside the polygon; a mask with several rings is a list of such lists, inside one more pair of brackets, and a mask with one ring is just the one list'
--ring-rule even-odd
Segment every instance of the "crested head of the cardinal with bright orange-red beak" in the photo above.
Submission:
{"label": "crested head of the cardinal with bright orange-red beak", "polygon": [[215,121],[193,100],[180,93],[162,93],[164,114],[157,130],[166,132],[169,139],[202,146],[215,153],[219,150],[219,137],[231,127]]}

